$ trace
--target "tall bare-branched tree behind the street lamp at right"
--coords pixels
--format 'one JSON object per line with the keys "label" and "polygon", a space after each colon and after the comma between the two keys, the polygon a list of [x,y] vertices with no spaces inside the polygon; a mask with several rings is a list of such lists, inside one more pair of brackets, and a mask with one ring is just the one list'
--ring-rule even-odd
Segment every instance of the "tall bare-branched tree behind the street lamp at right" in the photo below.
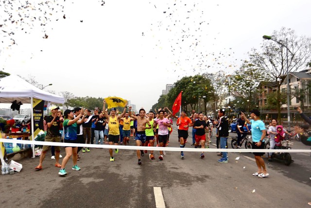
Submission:
{"label": "tall bare-branched tree behind the street lamp at right", "polygon": [[311,38],[305,36],[297,37],[294,30],[283,27],[280,31],[273,32],[272,39],[276,41],[265,40],[262,42],[262,51],[258,52],[256,49],[252,49],[250,58],[252,63],[255,63],[265,71],[270,79],[269,81],[277,82],[277,119],[281,121],[280,86],[287,75],[286,49],[288,48],[288,72],[295,72],[305,67],[307,60],[311,58]]}

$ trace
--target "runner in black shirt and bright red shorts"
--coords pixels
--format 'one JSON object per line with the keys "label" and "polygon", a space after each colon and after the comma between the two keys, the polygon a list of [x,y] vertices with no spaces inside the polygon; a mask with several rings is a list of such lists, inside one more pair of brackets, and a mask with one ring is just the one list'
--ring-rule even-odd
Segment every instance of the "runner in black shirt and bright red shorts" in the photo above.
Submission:
{"label": "runner in black shirt and bright red shorts", "polygon": [[[201,143],[201,147],[205,147],[205,129],[207,128],[207,123],[203,120],[203,113],[199,113],[199,119],[196,120],[193,124],[193,128],[196,130],[195,131],[195,144],[194,148],[197,148],[199,144]],[[204,158],[204,152],[201,152],[200,157],[203,159]]]}

